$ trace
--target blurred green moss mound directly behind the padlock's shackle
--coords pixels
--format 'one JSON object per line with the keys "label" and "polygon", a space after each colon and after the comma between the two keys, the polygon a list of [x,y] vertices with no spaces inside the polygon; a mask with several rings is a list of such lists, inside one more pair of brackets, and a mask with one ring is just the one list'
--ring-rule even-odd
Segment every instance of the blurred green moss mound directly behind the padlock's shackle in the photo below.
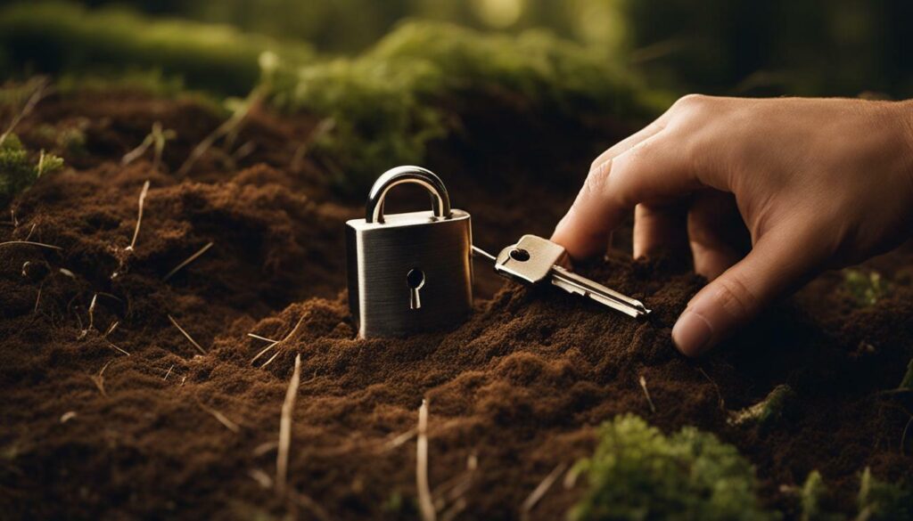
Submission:
{"label": "blurred green moss mound directly behind the padlock's shackle", "polygon": [[635,88],[603,55],[541,31],[496,36],[411,22],[360,57],[280,65],[269,99],[325,118],[315,148],[341,185],[361,187],[390,166],[422,162],[428,141],[453,129],[455,99],[508,96],[574,119],[633,119],[654,111]]}

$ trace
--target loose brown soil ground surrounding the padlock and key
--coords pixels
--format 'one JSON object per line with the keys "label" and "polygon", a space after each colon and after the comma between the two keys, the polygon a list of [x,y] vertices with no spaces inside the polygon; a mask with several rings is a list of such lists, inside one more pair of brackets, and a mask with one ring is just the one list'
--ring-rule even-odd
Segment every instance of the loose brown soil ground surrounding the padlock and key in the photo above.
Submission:
{"label": "loose brown soil ground surrounding the padlock and key", "polygon": [[[593,152],[624,133],[521,108],[465,114],[464,132],[436,145],[428,166],[455,206],[473,214],[476,242],[489,250],[522,233],[548,234]],[[235,165],[208,154],[179,179],[145,160],[119,164],[156,120],[178,133],[164,154],[170,172],[219,123],[190,101],[86,93],[45,100],[19,129],[34,148],[53,146],[42,141],[42,123],[79,125],[88,141],[66,158],[75,168],[16,200],[18,225],[0,227],[0,242],[27,236],[63,248],[0,246],[4,518],[415,518],[415,438],[400,435],[415,428],[423,398],[430,482],[445,499],[465,489],[463,518],[517,518],[546,474],[591,453],[594,427],[624,412],[735,443],[756,464],[764,502],[788,517],[797,513],[790,487],[813,469],[845,512],[866,466],[884,479],[913,478],[913,457],[903,455],[913,443],[901,446],[913,401],[878,393],[897,385],[913,355],[913,290],[902,282],[909,251],[874,261],[901,281],[875,306],[852,306],[839,276],[828,274],[697,361],[669,339],[703,284],[675,255],[634,262],[619,252],[581,268],[642,297],[655,310],[649,322],[550,288],[502,284],[477,265],[477,312],[462,327],[354,339],[341,236],[361,202],[334,194],[320,162],[292,166],[314,122],[257,111],[237,141],[254,143],[252,153]],[[534,152],[519,153],[526,150]],[[146,180],[152,189],[128,254]],[[251,363],[266,343],[247,333],[282,339],[293,329],[267,367],[272,353]],[[278,498],[259,481],[276,472],[296,355],[294,492]],[[786,421],[763,433],[727,424],[727,410],[784,382],[799,395]],[[580,493],[581,485],[556,485],[532,517],[561,518]],[[459,504],[450,498],[444,508]]]}

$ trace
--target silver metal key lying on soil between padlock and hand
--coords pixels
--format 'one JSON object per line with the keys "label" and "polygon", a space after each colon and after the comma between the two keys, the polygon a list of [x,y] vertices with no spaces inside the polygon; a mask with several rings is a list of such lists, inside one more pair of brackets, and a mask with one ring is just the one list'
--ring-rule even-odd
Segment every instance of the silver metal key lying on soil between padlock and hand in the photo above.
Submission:
{"label": "silver metal key lying on soil between padlock and hand", "polygon": [[504,248],[497,257],[489,255],[477,246],[472,246],[472,250],[494,261],[498,274],[523,284],[539,284],[548,279],[553,286],[560,287],[568,293],[590,297],[629,317],[644,318],[650,313],[641,301],[626,297],[562,267],[567,259],[567,252],[561,245],[540,236],[523,235],[516,245]]}

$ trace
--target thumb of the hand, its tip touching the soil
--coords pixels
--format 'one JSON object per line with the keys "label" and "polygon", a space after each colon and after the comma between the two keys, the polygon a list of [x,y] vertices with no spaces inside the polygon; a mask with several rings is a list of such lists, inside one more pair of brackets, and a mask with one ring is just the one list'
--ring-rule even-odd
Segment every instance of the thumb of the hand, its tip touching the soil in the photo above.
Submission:
{"label": "thumb of the hand, its tip touching the soil", "polygon": [[[764,235],[745,258],[691,298],[672,328],[678,350],[689,357],[704,354],[811,274],[818,255],[808,255],[810,243],[789,235]],[[805,255],[797,255],[803,250]]]}

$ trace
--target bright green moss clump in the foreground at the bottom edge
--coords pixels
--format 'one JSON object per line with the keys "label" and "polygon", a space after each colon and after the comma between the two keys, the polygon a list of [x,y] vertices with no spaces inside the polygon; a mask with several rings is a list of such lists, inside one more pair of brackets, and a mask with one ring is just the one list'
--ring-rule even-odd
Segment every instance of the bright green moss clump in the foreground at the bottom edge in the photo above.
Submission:
{"label": "bright green moss clump in the foreground at the bottom edge", "polygon": [[735,447],[693,427],[665,436],[620,416],[603,423],[593,457],[575,469],[589,485],[574,521],[778,518],[761,509],[754,470]]}

